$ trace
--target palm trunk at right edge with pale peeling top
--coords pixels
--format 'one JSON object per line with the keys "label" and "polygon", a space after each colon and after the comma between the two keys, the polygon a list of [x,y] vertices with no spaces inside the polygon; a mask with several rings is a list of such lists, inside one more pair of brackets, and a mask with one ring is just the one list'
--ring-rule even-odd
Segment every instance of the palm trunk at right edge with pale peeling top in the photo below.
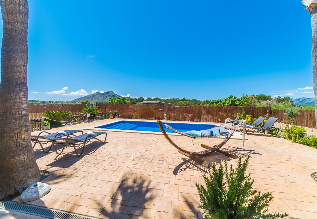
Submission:
{"label": "palm trunk at right edge with pale peeling top", "polygon": [[317,1],[303,0],[302,4],[306,5],[312,24],[312,60],[313,60],[313,87],[315,95],[315,118],[317,125]]}

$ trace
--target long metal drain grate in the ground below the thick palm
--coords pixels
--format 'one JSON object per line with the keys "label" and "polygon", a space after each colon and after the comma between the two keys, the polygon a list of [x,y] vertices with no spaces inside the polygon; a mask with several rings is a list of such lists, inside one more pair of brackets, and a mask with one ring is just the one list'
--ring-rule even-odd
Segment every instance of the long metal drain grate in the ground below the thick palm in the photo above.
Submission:
{"label": "long metal drain grate in the ground below the thick palm", "polygon": [[95,217],[77,215],[66,211],[43,208],[35,205],[16,203],[11,201],[0,201],[0,209],[13,210],[52,219],[96,219]]}

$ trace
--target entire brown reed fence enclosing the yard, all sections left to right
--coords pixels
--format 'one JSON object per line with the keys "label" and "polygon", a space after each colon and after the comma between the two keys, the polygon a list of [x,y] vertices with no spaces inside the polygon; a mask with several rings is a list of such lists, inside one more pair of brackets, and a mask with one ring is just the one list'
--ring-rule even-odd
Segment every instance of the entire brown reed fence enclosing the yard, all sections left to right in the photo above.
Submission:
{"label": "entire brown reed fence enclosing the yard, all sections left to right", "polygon": [[[80,114],[81,109],[85,104],[55,104],[55,103],[29,103],[29,118],[31,130],[42,130],[41,118],[46,110],[55,111],[70,111],[74,116],[70,116],[63,121],[68,123],[83,116]],[[279,118],[277,122],[287,123],[285,110],[271,109],[268,107],[239,107],[239,106],[175,106],[175,105],[146,105],[146,104],[109,104],[96,103],[100,113],[97,114],[98,119],[108,119],[110,111],[115,111],[120,118],[126,119],[164,119],[171,121],[191,121],[191,122],[223,122],[226,118],[236,118],[237,113],[251,114],[254,119],[259,116],[269,115]],[[316,128],[315,111],[314,110],[299,110],[301,114],[297,116],[297,125]],[[107,115],[105,115],[107,114]],[[165,117],[164,117],[164,114]],[[80,119],[81,122],[86,121],[86,117]]]}

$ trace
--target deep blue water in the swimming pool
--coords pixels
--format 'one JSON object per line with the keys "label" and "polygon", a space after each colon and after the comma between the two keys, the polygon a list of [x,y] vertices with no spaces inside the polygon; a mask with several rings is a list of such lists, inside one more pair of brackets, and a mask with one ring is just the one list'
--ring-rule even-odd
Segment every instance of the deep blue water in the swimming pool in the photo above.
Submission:
{"label": "deep blue water in the swimming pool", "polygon": [[[174,122],[164,122],[162,123],[175,128],[180,132],[186,132],[190,130],[205,130],[214,128],[215,125],[205,125],[205,124],[188,124],[188,123],[174,123]],[[166,130],[165,125],[163,125],[166,132],[172,132],[171,129]],[[140,121],[119,121],[111,124],[98,126],[95,128],[107,128],[107,129],[120,129],[120,130],[134,130],[134,131],[148,131],[148,132],[161,132],[157,122],[140,122]]]}

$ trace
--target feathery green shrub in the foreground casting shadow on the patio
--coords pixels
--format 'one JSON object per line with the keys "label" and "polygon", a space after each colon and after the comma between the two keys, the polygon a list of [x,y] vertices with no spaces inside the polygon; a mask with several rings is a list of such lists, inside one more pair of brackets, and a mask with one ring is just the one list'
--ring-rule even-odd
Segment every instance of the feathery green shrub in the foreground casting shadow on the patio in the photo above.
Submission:
{"label": "feathery green shrub in the foreground casting shadow on the patio", "polygon": [[283,218],[287,214],[267,213],[269,203],[272,202],[272,193],[262,194],[252,190],[254,180],[250,173],[246,173],[249,157],[242,162],[239,158],[237,168],[227,162],[219,165],[217,170],[212,162],[212,173],[204,175],[206,187],[197,184],[201,204],[198,206],[204,211],[204,218]]}

